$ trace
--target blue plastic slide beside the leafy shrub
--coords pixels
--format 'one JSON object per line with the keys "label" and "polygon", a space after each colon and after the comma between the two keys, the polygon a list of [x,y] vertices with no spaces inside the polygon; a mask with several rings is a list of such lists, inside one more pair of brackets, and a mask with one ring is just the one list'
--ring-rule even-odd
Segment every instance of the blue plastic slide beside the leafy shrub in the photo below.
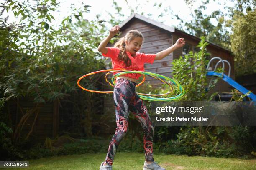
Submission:
{"label": "blue plastic slide beside the leafy shrub", "polygon": [[[218,73],[218,72],[214,72],[214,71],[208,71],[207,72],[207,76],[218,76],[218,77],[222,77],[222,79],[227,82],[228,84],[230,84],[232,87],[236,88],[238,91],[240,91],[243,94],[246,94],[249,90],[247,90],[245,87],[241,86],[240,84],[238,84],[236,81],[234,81],[232,78],[228,77],[225,74],[222,73]],[[250,97],[253,101],[256,101],[256,95],[253,93],[250,93],[249,95],[247,95],[248,97]]]}

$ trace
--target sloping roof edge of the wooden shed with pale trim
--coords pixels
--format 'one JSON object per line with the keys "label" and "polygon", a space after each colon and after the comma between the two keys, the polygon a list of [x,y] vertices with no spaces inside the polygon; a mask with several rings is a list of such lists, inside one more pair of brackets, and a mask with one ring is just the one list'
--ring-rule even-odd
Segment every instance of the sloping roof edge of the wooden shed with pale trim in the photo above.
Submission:
{"label": "sloping roof edge of the wooden shed with pale trim", "polygon": [[[139,20],[142,20],[142,21],[144,21],[144,22],[146,22],[146,23],[149,23],[149,24],[151,24],[151,25],[154,25],[154,26],[156,26],[156,27],[162,28],[162,29],[164,29],[164,30],[166,30],[166,31],[169,31],[169,32],[178,32],[178,33],[181,33],[181,34],[184,34],[184,35],[188,35],[188,36],[192,37],[192,39],[195,39],[195,40],[197,40],[197,41],[200,41],[200,38],[199,38],[199,37],[196,37],[196,36],[194,36],[194,35],[190,35],[190,34],[184,32],[184,31],[178,30],[177,28],[174,28],[174,27],[172,27],[172,26],[165,25],[165,24],[163,24],[163,23],[160,23],[160,22],[158,22],[158,21],[152,20],[152,19],[150,19],[150,18],[147,18],[147,17],[145,17],[145,16],[143,16],[143,15],[140,15],[140,14],[137,14],[137,13],[133,13],[133,15],[131,15],[129,18],[127,18],[127,19],[120,25],[120,28],[122,29],[122,27],[124,27],[130,20],[133,20],[134,18],[137,18],[137,19],[139,19]],[[218,48],[218,49],[221,49],[221,50],[224,50],[224,51],[226,51],[226,52],[228,52],[228,53],[231,53],[230,50],[227,50],[227,49],[225,49],[225,48],[223,48],[223,47],[221,47],[221,46],[219,46],[219,45],[216,45],[216,44],[214,44],[214,43],[212,43],[212,42],[209,42],[209,41],[207,41],[207,42],[210,43],[210,45],[212,45],[212,46],[214,46],[214,47],[216,47],[216,48]]]}

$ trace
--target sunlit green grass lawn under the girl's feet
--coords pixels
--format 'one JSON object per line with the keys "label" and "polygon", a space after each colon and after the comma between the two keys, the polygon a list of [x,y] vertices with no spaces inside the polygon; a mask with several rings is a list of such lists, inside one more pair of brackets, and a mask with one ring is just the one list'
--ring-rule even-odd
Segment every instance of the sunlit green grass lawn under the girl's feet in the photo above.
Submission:
{"label": "sunlit green grass lawn under the girl's feet", "polygon": [[[106,153],[67,155],[28,160],[26,170],[99,170]],[[155,154],[154,159],[166,170],[256,170],[256,159],[215,158]],[[143,153],[117,152],[113,170],[143,170]],[[20,168],[3,168],[15,170]]]}

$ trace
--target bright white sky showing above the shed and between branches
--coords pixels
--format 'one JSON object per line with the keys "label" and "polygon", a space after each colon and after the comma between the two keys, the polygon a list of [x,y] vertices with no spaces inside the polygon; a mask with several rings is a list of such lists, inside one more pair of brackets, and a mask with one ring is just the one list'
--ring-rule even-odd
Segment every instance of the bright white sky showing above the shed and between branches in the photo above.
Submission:
{"label": "bright white sky showing above the shed and between branches", "polygon": [[[18,0],[19,2],[24,2],[24,0]],[[97,14],[101,15],[100,19],[105,19],[104,17],[109,16],[108,12],[112,12],[113,16],[115,15],[115,8],[113,6],[113,0],[56,0],[60,3],[60,7],[51,15],[54,16],[55,21],[52,22],[54,25],[60,25],[63,18],[67,17],[69,14],[72,13],[70,6],[73,5],[74,7],[82,7],[82,2],[84,5],[90,5],[89,7],[90,13],[84,15],[83,17],[88,20],[93,20],[96,18]],[[0,2],[4,2],[4,0],[0,0]],[[148,18],[153,20],[159,21],[164,23],[165,25],[174,26],[176,27],[179,25],[180,21],[177,20],[173,15],[178,14],[180,18],[183,20],[192,20],[193,18],[190,16],[195,9],[197,9],[200,5],[202,5],[201,0],[195,0],[193,5],[187,5],[184,0],[158,0],[157,3],[162,3],[161,8],[157,8],[154,6],[155,0],[118,0],[115,1],[118,3],[118,6],[122,7],[121,13],[124,14],[124,17],[121,20],[126,20],[130,16],[130,9],[137,9],[134,10],[135,13],[141,14],[144,13]],[[28,0],[26,3],[35,3],[35,0]],[[233,7],[233,2],[227,0],[210,0],[210,3],[206,5],[207,10],[203,11],[204,14],[210,14],[214,10],[221,10],[225,13],[225,6]],[[167,8],[167,12],[164,12],[163,9]],[[161,12],[164,13],[163,17],[158,17]],[[147,14],[152,14],[148,16]],[[10,11],[8,13],[4,12],[2,17],[9,16],[8,23],[12,22],[19,22],[20,18],[15,18],[13,13]],[[214,20],[212,20],[215,23]]]}

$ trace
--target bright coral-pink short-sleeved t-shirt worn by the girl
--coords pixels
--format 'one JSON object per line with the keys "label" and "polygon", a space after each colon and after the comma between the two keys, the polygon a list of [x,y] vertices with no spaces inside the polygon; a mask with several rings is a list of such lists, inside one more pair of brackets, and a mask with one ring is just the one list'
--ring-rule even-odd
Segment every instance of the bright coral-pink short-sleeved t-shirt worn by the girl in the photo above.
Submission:
{"label": "bright coral-pink short-sleeved t-shirt worn by the girl", "polygon": [[[118,54],[120,52],[120,49],[117,47],[106,47],[108,48],[107,54],[102,53],[104,57],[110,57],[112,61],[112,67],[113,69],[127,69],[127,70],[136,70],[136,71],[144,71],[144,63],[150,63],[153,64],[156,55],[155,54],[144,54],[140,52],[136,52],[135,57],[131,56],[130,52],[126,52],[128,57],[131,60],[131,65],[129,67],[125,66],[125,63],[123,61],[118,60]],[[138,79],[141,77],[141,74],[125,74],[122,76]]]}

